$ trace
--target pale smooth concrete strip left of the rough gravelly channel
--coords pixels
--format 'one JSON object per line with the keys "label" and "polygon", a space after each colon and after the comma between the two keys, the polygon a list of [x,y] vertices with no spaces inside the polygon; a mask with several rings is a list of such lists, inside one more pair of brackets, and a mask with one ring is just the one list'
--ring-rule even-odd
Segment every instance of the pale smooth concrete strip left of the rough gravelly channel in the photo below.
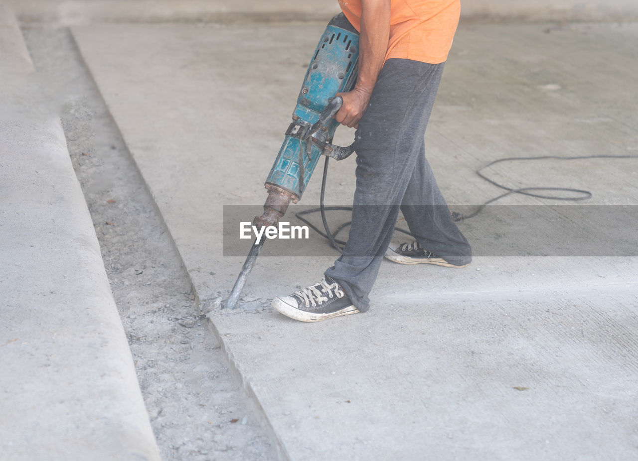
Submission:
{"label": "pale smooth concrete strip left of the rough gravelly channel", "polygon": [[56,112],[0,5],[0,458],[159,459]]}

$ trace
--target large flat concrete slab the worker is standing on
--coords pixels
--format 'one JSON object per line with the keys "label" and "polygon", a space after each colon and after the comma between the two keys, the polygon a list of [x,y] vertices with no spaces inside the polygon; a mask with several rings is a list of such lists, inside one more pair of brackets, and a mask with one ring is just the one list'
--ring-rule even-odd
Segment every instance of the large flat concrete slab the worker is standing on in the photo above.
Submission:
{"label": "large flat concrete slab the worker is standing on", "polygon": [[[268,300],[315,282],[334,254],[262,257],[242,309],[214,308],[243,260],[223,256],[222,205],[263,203],[322,29],[73,29],[281,455],[635,458],[636,258],[493,255],[464,270],[384,263],[370,312],[306,325],[272,312]],[[500,193],[473,174],[499,157],[634,155],[637,34],[635,25],[461,27],[426,135],[450,203]],[[590,189],[598,205],[635,205],[637,168],[635,159],[589,159],[493,174],[517,187]],[[350,200],[352,169],[352,159],[331,167],[328,203]],[[319,175],[305,203],[317,203]],[[463,230],[498,233],[491,219],[488,211]],[[523,247],[526,235],[514,237]]]}

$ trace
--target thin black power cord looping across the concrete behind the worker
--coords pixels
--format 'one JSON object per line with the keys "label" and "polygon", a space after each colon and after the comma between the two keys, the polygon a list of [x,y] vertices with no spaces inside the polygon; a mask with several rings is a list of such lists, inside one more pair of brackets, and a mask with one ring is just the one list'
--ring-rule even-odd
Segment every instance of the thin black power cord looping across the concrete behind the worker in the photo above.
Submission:
{"label": "thin black power cord looping across the concrete behind the worker", "polygon": [[[496,196],[494,198],[491,198],[490,200],[487,200],[482,205],[479,205],[479,207],[474,212],[472,212],[471,214],[465,215],[465,214],[461,214],[461,213],[457,213],[457,212],[452,212],[452,219],[454,219],[454,221],[463,221],[464,219],[470,219],[471,217],[475,217],[475,216],[477,216],[477,214],[482,212],[482,210],[487,205],[489,205],[490,203],[494,203],[494,201],[500,200],[501,198],[507,197],[508,195],[511,195],[511,194],[523,194],[523,195],[528,195],[528,196],[531,196],[531,197],[542,198],[542,199],[545,199],[545,200],[568,200],[568,201],[587,200],[587,199],[591,198],[591,196],[592,196],[590,191],[585,191],[585,190],[582,190],[582,189],[572,189],[570,187],[521,187],[520,189],[512,189],[511,187],[503,186],[503,184],[500,184],[499,182],[496,182],[493,179],[489,179],[484,173],[482,173],[483,170],[485,170],[486,168],[489,168],[490,166],[495,165],[496,163],[501,163],[501,162],[505,162],[505,161],[529,161],[529,160],[549,160],[549,159],[552,159],[552,160],[583,160],[583,159],[634,159],[634,158],[638,158],[638,156],[634,156],[634,155],[626,155],[626,156],[621,156],[621,155],[618,155],[618,156],[614,156],[614,155],[592,155],[592,156],[576,156],[576,157],[538,156],[538,157],[505,157],[505,158],[501,158],[501,159],[496,159],[494,161],[491,161],[491,162],[487,163],[486,165],[481,166],[478,170],[476,170],[475,173],[477,173],[477,175],[479,175],[479,177],[481,177],[482,179],[486,180],[490,184],[493,184],[496,187],[500,187],[501,189],[505,189],[505,191],[507,191],[507,192],[503,193],[503,194],[500,194],[500,195],[498,195],[498,196]],[[330,228],[328,226],[328,221],[326,219],[325,212],[326,211],[334,211],[334,210],[352,211],[352,207],[325,207],[323,205],[323,197],[325,195],[325,183],[326,183],[326,179],[328,177],[328,162],[329,162],[329,160],[330,160],[330,157],[325,157],[325,163],[323,164],[323,178],[322,178],[322,184],[321,184],[321,195],[320,195],[320,200],[319,200],[319,208],[313,208],[313,209],[310,209],[310,210],[300,211],[300,212],[296,213],[295,216],[297,217],[297,219],[299,219],[299,221],[302,221],[302,223],[307,224],[309,226],[309,228],[314,230],[316,233],[321,235],[323,238],[327,238],[330,241],[330,245],[332,245],[332,247],[334,247],[340,253],[343,253],[343,245],[345,245],[346,242],[344,242],[343,240],[338,240],[337,235],[343,229],[345,229],[346,227],[350,226],[350,224],[352,224],[352,221],[348,221],[347,223],[339,224],[339,226],[337,227],[337,229],[334,232],[330,232]],[[575,193],[575,194],[579,194],[579,195],[574,196],[574,197],[561,197],[561,196],[540,194],[540,193],[532,192],[532,191],[537,191],[537,192],[538,191],[560,191],[560,192]],[[312,224],[310,221],[308,221],[308,219],[302,217],[302,216],[305,216],[307,214],[313,214],[313,213],[316,213],[316,212],[320,212],[321,213],[321,217],[322,217],[322,221],[323,221],[323,228],[325,229],[325,233],[323,233],[319,228],[317,228],[314,224]],[[415,235],[413,235],[412,233],[410,233],[409,231],[406,231],[404,229],[394,228],[394,230],[399,231],[399,232],[403,232],[404,234],[407,234],[407,235],[410,235],[411,237],[416,238]]]}

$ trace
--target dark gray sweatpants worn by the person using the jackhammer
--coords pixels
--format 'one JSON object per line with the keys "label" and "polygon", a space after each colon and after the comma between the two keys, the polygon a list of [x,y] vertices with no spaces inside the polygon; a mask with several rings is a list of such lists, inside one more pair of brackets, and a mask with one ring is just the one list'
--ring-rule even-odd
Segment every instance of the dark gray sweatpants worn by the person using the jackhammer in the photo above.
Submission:
{"label": "dark gray sweatpants worn by the person using the jackhammer", "polygon": [[[454,265],[471,261],[425,156],[424,135],[443,63],[388,59],[355,133],[357,189],[343,255],[325,271],[360,311],[369,309],[399,209],[427,251]],[[409,237],[406,240],[411,240]]]}

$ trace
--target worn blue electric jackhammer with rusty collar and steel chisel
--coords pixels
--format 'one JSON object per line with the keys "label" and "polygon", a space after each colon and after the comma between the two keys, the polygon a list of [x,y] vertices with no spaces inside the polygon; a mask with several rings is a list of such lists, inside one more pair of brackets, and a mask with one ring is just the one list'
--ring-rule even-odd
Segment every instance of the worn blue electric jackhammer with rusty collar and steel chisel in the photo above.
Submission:
{"label": "worn blue electric jackhammer with rusty collar and steel chisel", "polygon": [[[263,204],[263,214],[253,220],[257,229],[278,226],[290,202],[300,200],[322,155],[341,160],[354,151],[353,145],[339,147],[331,143],[339,126],[333,117],[343,103],[343,99],[335,95],[354,87],[358,58],[359,33],[340,13],[330,20],[306,71],[292,123],[265,182],[268,198]],[[255,239],[253,242],[225,302],[226,309],[234,309],[237,305],[264,241],[257,243]]]}

